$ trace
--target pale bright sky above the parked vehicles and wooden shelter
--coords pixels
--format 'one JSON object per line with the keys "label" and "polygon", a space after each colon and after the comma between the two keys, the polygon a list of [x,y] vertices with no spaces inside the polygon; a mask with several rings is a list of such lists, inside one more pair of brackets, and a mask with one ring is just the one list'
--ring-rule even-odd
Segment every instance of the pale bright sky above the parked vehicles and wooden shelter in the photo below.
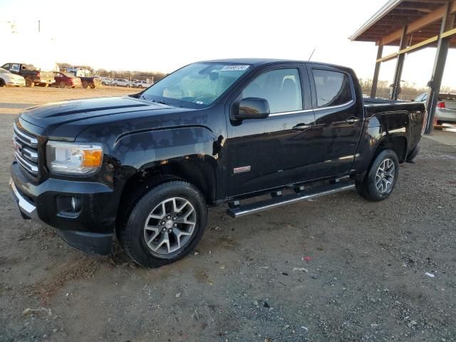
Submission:
{"label": "pale bright sky above the parked vehicles and wooden shelter", "polygon": [[[315,49],[312,61],[349,66],[366,79],[373,77],[377,47],[348,36],[385,2],[0,0],[0,21],[15,21],[25,37],[34,37],[41,21],[40,35],[52,39],[53,48],[28,53],[30,58],[39,53],[41,59],[107,70],[170,73],[214,58],[308,60]],[[383,55],[396,50],[385,48]],[[434,56],[435,48],[407,55],[402,79],[425,87]],[[392,82],[394,68],[395,60],[383,63],[380,80]],[[455,75],[453,49],[442,86],[456,89]]]}

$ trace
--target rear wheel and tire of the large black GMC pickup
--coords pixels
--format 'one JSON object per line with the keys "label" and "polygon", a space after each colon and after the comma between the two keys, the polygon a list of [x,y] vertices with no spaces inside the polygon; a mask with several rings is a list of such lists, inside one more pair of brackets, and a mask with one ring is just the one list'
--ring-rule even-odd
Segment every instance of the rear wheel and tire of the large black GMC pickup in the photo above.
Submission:
{"label": "rear wheel and tire of the large black GMC pickup", "polygon": [[373,160],[363,182],[356,182],[356,189],[365,199],[378,202],[391,195],[398,176],[398,156],[393,150],[382,150]]}

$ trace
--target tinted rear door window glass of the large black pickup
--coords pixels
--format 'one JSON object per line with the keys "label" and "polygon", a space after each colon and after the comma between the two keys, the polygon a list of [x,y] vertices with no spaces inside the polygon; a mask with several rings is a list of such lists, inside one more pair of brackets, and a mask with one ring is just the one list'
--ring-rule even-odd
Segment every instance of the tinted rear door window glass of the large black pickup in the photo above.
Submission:
{"label": "tinted rear door window glass of the large black pickup", "polygon": [[350,78],[338,71],[314,69],[316,101],[318,108],[343,105],[353,100]]}

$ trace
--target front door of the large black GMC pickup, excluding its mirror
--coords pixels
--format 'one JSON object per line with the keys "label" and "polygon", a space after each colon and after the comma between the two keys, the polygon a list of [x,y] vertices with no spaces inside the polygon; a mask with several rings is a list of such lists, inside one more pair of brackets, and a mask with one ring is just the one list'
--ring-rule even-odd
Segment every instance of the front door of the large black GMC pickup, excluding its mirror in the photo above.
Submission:
{"label": "front door of the large black GMC pickup, excluding its mirror", "polygon": [[242,122],[228,115],[228,195],[306,180],[314,112],[305,66],[280,64],[257,71],[233,95],[232,103],[243,98],[266,99],[270,115]]}

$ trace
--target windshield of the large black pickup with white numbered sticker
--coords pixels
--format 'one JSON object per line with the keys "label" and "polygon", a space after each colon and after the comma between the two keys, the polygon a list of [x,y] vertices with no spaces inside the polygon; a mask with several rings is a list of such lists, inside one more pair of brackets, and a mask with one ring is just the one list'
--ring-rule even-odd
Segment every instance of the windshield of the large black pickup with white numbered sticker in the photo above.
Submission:
{"label": "windshield of the large black pickup with white numbered sticker", "polygon": [[155,83],[142,93],[142,98],[211,105],[248,68],[246,64],[193,63]]}

